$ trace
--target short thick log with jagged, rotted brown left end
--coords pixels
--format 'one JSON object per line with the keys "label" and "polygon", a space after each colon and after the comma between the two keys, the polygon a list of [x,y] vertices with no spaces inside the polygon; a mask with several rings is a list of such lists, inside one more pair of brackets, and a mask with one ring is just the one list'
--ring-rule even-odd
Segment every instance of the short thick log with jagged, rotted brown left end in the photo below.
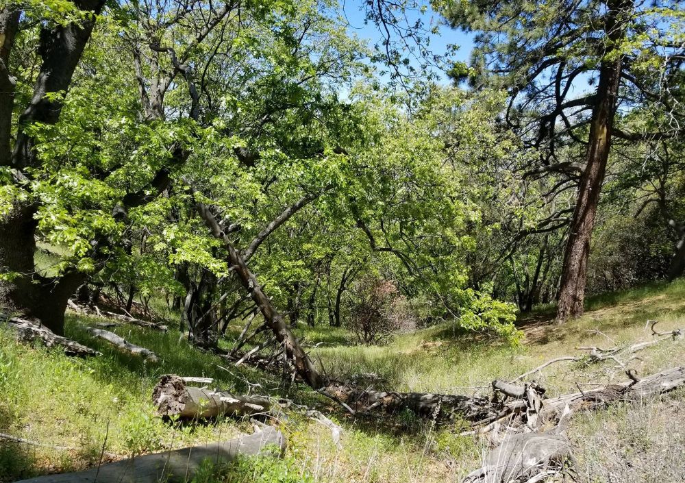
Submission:
{"label": "short thick log with jagged, rotted brown left end", "polygon": [[153,388],[152,401],[161,416],[184,418],[212,418],[220,414],[241,417],[271,409],[271,403],[264,397],[187,386],[181,377],[169,374],[162,375]]}

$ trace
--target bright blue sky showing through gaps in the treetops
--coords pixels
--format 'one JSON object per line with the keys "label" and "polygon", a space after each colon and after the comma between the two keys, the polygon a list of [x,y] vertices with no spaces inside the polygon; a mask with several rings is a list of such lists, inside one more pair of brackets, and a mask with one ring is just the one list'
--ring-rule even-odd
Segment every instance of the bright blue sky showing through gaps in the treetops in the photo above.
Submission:
{"label": "bright blue sky showing through gaps in the treetops", "polygon": [[[427,11],[423,15],[419,14],[419,12],[412,12],[410,20],[415,21],[421,15],[424,25],[439,25],[440,27],[439,35],[430,36],[429,49],[434,53],[443,55],[447,53],[448,45],[458,45],[458,51],[453,53],[450,58],[452,60],[469,62],[471,49],[473,49],[473,33],[467,34],[460,30],[451,29],[448,25],[445,25],[443,18],[430,8],[428,2],[420,1],[417,3],[425,4]],[[340,12],[349,21],[349,32],[369,40],[369,44],[373,45],[375,42],[382,40],[382,35],[373,23],[364,24],[364,7],[364,2],[360,0],[340,0]],[[413,63],[417,64],[417,62]]]}

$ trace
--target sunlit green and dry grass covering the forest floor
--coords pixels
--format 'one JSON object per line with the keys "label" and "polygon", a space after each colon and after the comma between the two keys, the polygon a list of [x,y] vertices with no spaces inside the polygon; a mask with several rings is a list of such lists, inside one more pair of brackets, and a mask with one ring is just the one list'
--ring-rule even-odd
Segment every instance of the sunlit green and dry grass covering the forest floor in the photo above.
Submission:
{"label": "sunlit green and dry grass covering the forest floor", "polygon": [[[651,340],[647,319],[659,330],[685,328],[685,281],[654,284],[588,301],[584,317],[556,325],[549,312],[521,317],[519,345],[464,334],[443,324],[396,336],[382,347],[355,345],[331,327],[300,327],[312,356],[327,375],[349,380],[373,373],[376,388],[455,394],[489,394],[495,378],[512,379],[559,356],[577,356],[581,345],[612,347]],[[125,458],[250,433],[249,421],[171,424],[155,417],[151,391],[160,375],[213,377],[238,393],[287,397],[316,407],[343,428],[339,447],[329,428],[308,419],[302,407],[284,408],[272,423],[288,438],[286,458],[251,467],[245,482],[458,482],[479,467],[487,438],[460,435],[461,421],[434,423],[410,413],[356,418],[280,375],[234,367],[199,351],[178,332],[166,334],[121,325],[114,329],[160,356],[143,362],[92,338],[83,325],[100,319],[69,314],[67,335],[103,353],[67,358],[58,350],[27,347],[0,330],[0,432],[55,449],[0,439],[0,482],[97,465],[102,451]],[[638,354],[630,367],[645,375],[683,364],[685,341],[667,340]],[[547,395],[577,391],[577,383],[623,382],[612,364],[560,362],[536,377]],[[247,384],[247,382],[251,384]],[[261,386],[253,386],[261,384]],[[568,430],[586,482],[682,482],[685,474],[685,391],[660,400],[633,401],[577,414]],[[105,456],[106,460],[108,456]]]}

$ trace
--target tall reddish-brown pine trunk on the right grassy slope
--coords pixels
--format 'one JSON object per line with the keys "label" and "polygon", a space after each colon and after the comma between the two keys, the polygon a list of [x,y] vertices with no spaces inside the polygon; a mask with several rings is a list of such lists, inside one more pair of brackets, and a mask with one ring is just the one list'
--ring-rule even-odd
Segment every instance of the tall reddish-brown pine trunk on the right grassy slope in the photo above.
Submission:
{"label": "tall reddish-brown pine trunk on the right grassy slope", "polygon": [[584,310],[590,240],[611,148],[616,98],[621,80],[621,62],[623,62],[622,55],[610,54],[615,53],[616,43],[625,36],[625,15],[627,10],[632,8],[632,0],[612,0],[607,8],[609,13],[605,32],[610,47],[604,54],[605,58],[599,68],[599,85],[590,123],[586,166],[580,177],[578,199],[564,254],[557,310],[557,320],[560,322],[580,316]]}

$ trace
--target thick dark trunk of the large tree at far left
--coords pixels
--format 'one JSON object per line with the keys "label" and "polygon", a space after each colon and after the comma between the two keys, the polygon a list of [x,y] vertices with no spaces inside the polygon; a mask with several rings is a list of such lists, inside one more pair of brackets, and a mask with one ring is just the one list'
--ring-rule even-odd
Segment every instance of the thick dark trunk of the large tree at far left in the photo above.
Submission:
{"label": "thick dark trunk of the large tree at far left", "polygon": [[[63,97],[51,94],[69,89],[77,63],[95,27],[95,14],[104,5],[103,0],[77,0],[74,3],[80,10],[93,12],[94,15],[78,23],[44,27],[40,32],[40,73],[34,86],[34,95],[19,116],[11,155],[8,129],[12,125],[12,103],[0,98],[0,165],[16,169],[18,184],[29,179],[23,170],[38,164],[34,140],[26,134],[24,127],[35,122],[54,124],[59,120]],[[14,89],[9,60],[18,18],[16,11],[10,12],[6,8],[0,10],[0,92],[5,92],[3,86]],[[0,281],[0,307],[7,312],[21,312],[40,319],[55,334],[60,335],[64,333],[67,299],[81,284],[83,277],[75,272],[59,278],[42,277],[36,273],[36,210],[37,206],[32,201],[16,201],[12,209],[0,217],[0,273],[12,274],[9,280]]]}

